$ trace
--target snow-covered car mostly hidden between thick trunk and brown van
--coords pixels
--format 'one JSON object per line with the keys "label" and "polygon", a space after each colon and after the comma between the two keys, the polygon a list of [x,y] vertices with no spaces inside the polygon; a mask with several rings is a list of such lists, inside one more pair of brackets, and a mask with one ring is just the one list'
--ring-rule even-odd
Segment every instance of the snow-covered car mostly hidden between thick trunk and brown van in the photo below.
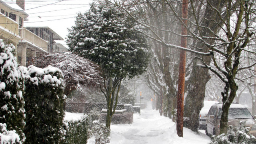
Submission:
{"label": "snow-covered car mostly hidden between thick trunk and brown van", "polygon": [[198,126],[199,130],[206,129],[206,115],[208,114],[211,106],[216,103],[218,102],[212,101],[212,100],[204,100],[204,106],[199,113],[199,126]]}

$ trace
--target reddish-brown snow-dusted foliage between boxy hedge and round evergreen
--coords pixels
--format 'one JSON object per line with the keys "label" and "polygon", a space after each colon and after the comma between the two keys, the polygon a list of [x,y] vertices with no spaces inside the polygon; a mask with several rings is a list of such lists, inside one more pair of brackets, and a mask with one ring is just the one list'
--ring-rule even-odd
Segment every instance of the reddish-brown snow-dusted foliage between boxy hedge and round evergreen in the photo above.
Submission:
{"label": "reddish-brown snow-dusted foliage between boxy hedge and round evergreen", "polygon": [[34,65],[39,68],[49,65],[59,68],[64,75],[66,95],[76,88],[77,84],[92,88],[97,87],[102,81],[98,65],[71,52],[40,54],[34,58]]}

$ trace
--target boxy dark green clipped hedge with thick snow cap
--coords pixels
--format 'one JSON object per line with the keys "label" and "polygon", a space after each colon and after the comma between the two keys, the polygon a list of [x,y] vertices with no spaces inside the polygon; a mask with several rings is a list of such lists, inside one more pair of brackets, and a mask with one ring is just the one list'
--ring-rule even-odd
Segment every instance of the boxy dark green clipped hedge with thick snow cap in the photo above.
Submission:
{"label": "boxy dark green clipped hedge with thick snow cap", "polygon": [[63,136],[63,74],[58,68],[29,66],[25,74],[26,144],[58,144]]}

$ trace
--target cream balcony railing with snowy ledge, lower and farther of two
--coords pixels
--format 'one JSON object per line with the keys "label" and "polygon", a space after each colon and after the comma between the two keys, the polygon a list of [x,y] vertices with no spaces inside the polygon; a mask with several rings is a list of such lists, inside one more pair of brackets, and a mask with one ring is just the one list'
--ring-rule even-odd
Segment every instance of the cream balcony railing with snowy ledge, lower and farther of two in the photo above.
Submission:
{"label": "cream balcony railing with snowy ledge, lower and farther of two", "polygon": [[48,45],[47,41],[45,41],[44,39],[40,38],[39,36],[37,36],[33,32],[30,32],[26,28],[19,28],[19,30],[20,30],[20,37],[23,40],[31,42],[32,44],[34,44],[34,45],[42,48],[43,50],[47,51],[47,45]]}

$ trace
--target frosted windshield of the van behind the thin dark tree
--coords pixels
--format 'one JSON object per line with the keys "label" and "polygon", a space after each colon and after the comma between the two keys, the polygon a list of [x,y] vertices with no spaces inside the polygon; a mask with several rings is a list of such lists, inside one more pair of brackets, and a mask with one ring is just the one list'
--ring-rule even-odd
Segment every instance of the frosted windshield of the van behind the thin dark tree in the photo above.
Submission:
{"label": "frosted windshield of the van behind the thin dark tree", "polygon": [[[219,108],[218,118],[220,119],[222,108]],[[247,108],[230,108],[228,110],[228,119],[253,119]]]}

